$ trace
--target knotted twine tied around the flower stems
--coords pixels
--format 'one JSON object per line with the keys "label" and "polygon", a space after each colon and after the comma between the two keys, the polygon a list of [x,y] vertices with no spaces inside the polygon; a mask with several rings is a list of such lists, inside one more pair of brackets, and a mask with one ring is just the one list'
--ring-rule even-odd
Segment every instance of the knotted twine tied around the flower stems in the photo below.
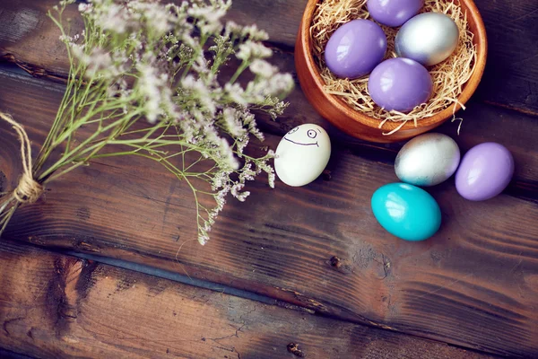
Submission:
{"label": "knotted twine tied around the flower stems", "polygon": [[44,188],[37,180],[34,180],[31,173],[30,139],[28,138],[26,131],[24,131],[24,128],[10,115],[0,112],[0,118],[4,119],[5,122],[13,127],[21,141],[22,176],[21,180],[19,180],[19,185],[13,191],[13,197],[15,197],[21,204],[34,203],[41,197]]}

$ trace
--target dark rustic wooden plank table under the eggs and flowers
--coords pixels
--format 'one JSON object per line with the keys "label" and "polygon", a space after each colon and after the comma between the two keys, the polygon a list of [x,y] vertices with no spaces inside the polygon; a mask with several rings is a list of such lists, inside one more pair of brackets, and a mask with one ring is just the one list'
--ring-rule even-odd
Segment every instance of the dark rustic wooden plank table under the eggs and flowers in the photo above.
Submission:
{"label": "dark rustic wooden plank table under the eggs and flowers", "polygon": [[[269,31],[274,63],[294,72],[306,0],[234,3],[230,19]],[[65,49],[45,15],[53,4],[0,4],[0,109],[26,127],[34,151],[65,89]],[[23,206],[0,241],[0,356],[538,357],[538,4],[477,4],[486,74],[458,113],[461,135],[457,123],[439,131],[464,151],[505,144],[516,175],[504,194],[469,202],[449,180],[430,189],[444,215],[435,238],[395,239],[369,198],[397,180],[402,144],[344,136],[298,85],[285,116],[258,121],[273,148],[301,123],[327,128],[329,171],[304,188],[252,184],[205,247],[190,241],[189,190],[139,159],[93,162]],[[20,174],[18,145],[1,124],[3,188]]]}

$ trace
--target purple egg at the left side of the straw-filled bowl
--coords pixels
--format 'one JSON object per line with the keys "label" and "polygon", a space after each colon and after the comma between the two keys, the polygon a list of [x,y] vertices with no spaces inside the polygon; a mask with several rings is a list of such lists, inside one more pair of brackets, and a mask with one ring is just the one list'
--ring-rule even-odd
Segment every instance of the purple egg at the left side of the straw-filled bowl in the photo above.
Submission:
{"label": "purple egg at the left side of the straw-filled bowl", "polygon": [[369,20],[353,20],[334,31],[325,47],[325,63],[338,77],[353,79],[369,74],[385,52],[381,27]]}

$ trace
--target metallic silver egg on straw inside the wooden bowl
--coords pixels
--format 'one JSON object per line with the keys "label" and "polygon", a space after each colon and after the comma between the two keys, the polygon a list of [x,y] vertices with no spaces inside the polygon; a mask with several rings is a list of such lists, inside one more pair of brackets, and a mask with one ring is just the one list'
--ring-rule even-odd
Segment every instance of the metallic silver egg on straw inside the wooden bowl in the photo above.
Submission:
{"label": "metallic silver egg on straw inside the wooden bowl", "polygon": [[446,60],[456,49],[459,30],[456,22],[444,13],[421,13],[398,31],[395,50],[424,66]]}

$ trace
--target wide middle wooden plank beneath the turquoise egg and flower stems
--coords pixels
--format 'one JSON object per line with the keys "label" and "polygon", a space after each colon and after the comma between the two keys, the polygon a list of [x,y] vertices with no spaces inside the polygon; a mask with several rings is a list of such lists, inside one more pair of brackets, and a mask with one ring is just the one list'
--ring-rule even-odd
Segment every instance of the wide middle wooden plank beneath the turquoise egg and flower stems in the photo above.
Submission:
{"label": "wide middle wooden plank beneath the turquoise egg and flower stems", "polygon": [[[38,144],[63,86],[1,76],[3,109]],[[517,118],[506,121],[511,125]],[[532,137],[536,131],[528,126],[516,128],[530,133],[510,133],[496,123],[486,127],[490,139],[507,133]],[[267,137],[274,147],[278,137]],[[13,186],[20,171],[13,154],[18,144],[6,127],[0,138],[0,165]],[[535,151],[516,154],[518,165],[536,161]],[[195,238],[195,208],[185,186],[154,163],[110,159],[51,184],[46,198],[20,209],[5,234],[187,273],[458,346],[536,355],[538,227],[529,219],[538,216],[538,206],[508,195],[468,202],[449,182],[431,189],[445,218],[438,235],[421,243],[399,241],[369,209],[373,191],[396,180],[390,161],[337,148],[330,178],[305,188],[278,183],[275,190],[257,181],[247,203],[230,202],[212,241],[201,247],[189,241]],[[516,181],[529,175],[518,171]]]}

